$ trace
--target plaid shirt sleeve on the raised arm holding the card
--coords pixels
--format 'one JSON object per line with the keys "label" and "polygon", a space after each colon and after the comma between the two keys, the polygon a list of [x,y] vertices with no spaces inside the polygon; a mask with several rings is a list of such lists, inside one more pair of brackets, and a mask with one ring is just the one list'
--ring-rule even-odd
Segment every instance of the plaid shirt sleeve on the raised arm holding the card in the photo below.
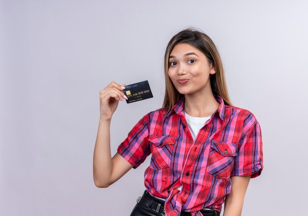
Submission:
{"label": "plaid shirt sleeve on the raised arm holding the card", "polygon": [[[149,113],[148,113],[149,114]],[[150,155],[148,114],[144,115],[119,145],[117,152],[137,168]]]}

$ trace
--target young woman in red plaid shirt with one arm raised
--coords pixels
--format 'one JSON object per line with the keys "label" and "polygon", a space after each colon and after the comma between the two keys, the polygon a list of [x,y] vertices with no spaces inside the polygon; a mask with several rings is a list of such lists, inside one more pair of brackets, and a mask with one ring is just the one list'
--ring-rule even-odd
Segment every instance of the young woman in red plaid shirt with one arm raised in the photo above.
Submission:
{"label": "young woman in red plaid shirt with one arm raised", "polygon": [[240,216],[249,180],[263,169],[259,122],[231,104],[220,56],[202,31],[174,35],[164,67],[162,108],[137,122],[113,158],[110,121],[125,84],[100,91],[95,185],[110,186],[152,154],[146,190],[130,216],[219,216],[223,203],[223,216]]}

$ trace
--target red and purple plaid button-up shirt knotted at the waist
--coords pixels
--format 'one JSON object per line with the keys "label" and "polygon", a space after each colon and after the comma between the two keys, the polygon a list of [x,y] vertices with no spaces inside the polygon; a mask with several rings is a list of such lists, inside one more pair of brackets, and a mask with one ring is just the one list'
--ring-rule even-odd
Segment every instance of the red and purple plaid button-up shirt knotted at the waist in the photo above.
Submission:
{"label": "red and purple plaid button-up shirt knotted at the waist", "polygon": [[[192,139],[185,120],[183,97],[165,116],[167,108],[144,115],[119,145],[118,153],[137,168],[152,153],[145,170],[145,186],[164,198],[167,216],[202,216],[200,209],[221,211],[230,193],[231,176],[252,175],[263,169],[259,122],[248,110],[220,103]],[[182,189],[177,189],[182,184]]]}

